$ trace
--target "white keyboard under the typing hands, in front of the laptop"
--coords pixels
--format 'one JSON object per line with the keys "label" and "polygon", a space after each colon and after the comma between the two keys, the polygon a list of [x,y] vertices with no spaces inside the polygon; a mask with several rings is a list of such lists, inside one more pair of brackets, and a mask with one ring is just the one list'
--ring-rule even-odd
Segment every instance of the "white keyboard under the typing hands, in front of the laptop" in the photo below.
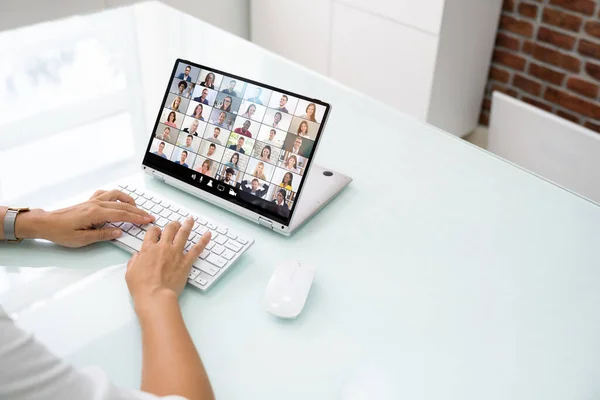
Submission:
{"label": "white keyboard under the typing hands, in front of the laptop", "polygon": [[118,189],[133,197],[139,208],[156,217],[153,223],[147,225],[135,225],[128,222],[110,224],[123,231],[123,234],[113,242],[130,253],[140,251],[146,231],[153,225],[163,229],[171,221],[183,223],[190,216],[194,218],[194,227],[185,251],[198,243],[206,231],[212,232],[211,241],[198,260],[194,262],[188,277],[188,283],[201,290],[207,290],[254,243],[254,239],[249,236],[240,235],[222,223],[191,214],[183,207],[165,201],[148,191],[136,189],[131,185],[119,186]]}

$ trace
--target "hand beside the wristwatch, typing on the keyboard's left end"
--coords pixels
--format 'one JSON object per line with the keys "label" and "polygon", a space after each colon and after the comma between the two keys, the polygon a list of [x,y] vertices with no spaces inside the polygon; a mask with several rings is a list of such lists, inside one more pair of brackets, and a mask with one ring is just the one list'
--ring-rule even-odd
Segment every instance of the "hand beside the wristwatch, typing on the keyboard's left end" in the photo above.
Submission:
{"label": "hand beside the wristwatch, typing on the keyboard's left end", "polygon": [[118,190],[98,190],[85,203],[72,207],[19,214],[15,233],[19,238],[41,238],[66,247],[82,247],[121,236],[119,228],[96,229],[106,222],[141,225],[152,221],[154,217],[137,208],[132,197]]}

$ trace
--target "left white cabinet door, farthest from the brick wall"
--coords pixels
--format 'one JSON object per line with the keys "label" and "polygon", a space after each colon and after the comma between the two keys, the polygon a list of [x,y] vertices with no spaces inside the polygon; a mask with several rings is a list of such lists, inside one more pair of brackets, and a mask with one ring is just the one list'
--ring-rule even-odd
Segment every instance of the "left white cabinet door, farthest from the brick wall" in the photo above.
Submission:
{"label": "left white cabinet door, farthest from the brick wall", "polygon": [[252,0],[250,39],[314,69],[329,70],[331,2]]}

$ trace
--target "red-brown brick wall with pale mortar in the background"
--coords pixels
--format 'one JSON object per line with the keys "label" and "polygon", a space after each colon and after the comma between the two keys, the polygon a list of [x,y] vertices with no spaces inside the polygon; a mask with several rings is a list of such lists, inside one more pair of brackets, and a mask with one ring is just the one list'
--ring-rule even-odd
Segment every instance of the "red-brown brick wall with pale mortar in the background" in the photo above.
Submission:
{"label": "red-brown brick wall with pale mortar in the background", "polygon": [[504,0],[482,125],[499,90],[600,133],[599,4]]}

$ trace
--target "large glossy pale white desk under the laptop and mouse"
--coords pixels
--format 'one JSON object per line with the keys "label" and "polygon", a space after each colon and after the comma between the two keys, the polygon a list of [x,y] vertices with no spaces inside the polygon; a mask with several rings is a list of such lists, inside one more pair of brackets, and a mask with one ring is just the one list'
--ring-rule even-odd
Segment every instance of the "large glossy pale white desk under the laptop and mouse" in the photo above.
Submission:
{"label": "large glossy pale white desk under the laptop and mouse", "polygon": [[[256,238],[212,290],[202,294],[188,288],[181,299],[217,398],[573,400],[599,395],[597,205],[164,6],[140,5],[76,22],[92,42],[109,33],[120,37],[106,40],[104,47],[90,46],[85,54],[110,60],[124,72],[122,81],[120,73],[114,75],[114,93],[122,95],[110,92],[101,98],[112,99],[108,105],[85,105],[88,112],[73,118],[77,124],[86,122],[84,117],[101,124],[125,110],[132,122],[100,129],[69,152],[77,159],[78,150],[85,149],[88,159],[101,160],[106,154],[99,149],[115,138],[133,143],[133,152],[115,149],[121,158],[90,172],[57,164],[55,153],[63,150],[49,148],[36,155],[38,166],[66,178],[44,188],[47,182],[36,176],[17,181],[7,175],[3,160],[19,147],[5,137],[12,147],[0,151],[3,202],[72,202],[77,193],[135,174],[178,56],[311,92],[334,105],[317,163],[352,175],[354,182],[292,238],[135,177]],[[47,29],[42,37],[48,37],[69,23],[30,29]],[[0,36],[2,43],[6,36]],[[22,55],[28,47],[21,47]],[[67,77],[63,85],[80,78]],[[30,104],[19,98],[10,106],[18,110]],[[33,130],[34,138],[76,125],[71,121],[60,128],[58,116],[65,114],[56,114]],[[23,132],[16,124],[15,132]],[[2,137],[5,131],[0,132]],[[29,189],[32,182],[43,190]],[[110,244],[77,251],[37,243],[0,246],[2,301],[60,355],[77,365],[99,365],[118,383],[136,387],[139,328],[123,268],[105,268],[127,259]],[[271,272],[284,259],[317,267],[308,303],[295,321],[277,320],[262,305]],[[44,265],[70,269],[26,278],[32,272],[24,266]],[[46,282],[51,290],[42,290]]]}

